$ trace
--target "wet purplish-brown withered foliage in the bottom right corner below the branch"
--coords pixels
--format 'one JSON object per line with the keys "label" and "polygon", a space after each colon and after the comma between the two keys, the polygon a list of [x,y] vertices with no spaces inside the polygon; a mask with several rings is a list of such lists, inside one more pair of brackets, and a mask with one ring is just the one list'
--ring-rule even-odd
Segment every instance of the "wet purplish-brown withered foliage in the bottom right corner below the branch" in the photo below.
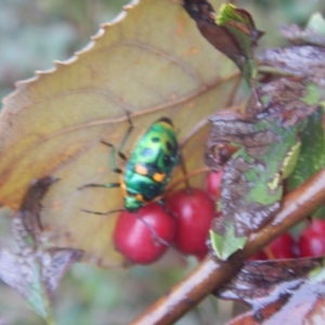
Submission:
{"label": "wet purplish-brown withered foliage in the bottom right corner below the branch", "polygon": [[[322,275],[322,260],[313,258],[246,262],[235,278],[214,295],[252,308],[251,313],[243,316],[246,323],[240,317],[243,324],[302,325],[307,317],[316,317],[324,312],[324,277],[311,275],[313,270]],[[237,324],[236,322],[230,324]]]}

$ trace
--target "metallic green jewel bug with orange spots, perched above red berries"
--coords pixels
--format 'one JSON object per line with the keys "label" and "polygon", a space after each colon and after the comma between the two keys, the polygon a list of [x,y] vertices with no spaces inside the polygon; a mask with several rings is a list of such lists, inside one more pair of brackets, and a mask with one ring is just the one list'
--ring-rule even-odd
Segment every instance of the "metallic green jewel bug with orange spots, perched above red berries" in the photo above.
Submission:
{"label": "metallic green jewel bug with orange spots, perched above red berries", "polygon": [[[115,164],[115,146],[102,141],[110,147],[112,170],[120,174],[118,183],[86,184],[83,187],[121,187],[125,199],[125,209],[130,212],[138,211],[147,203],[160,200],[165,187],[168,184],[173,168],[179,162],[179,145],[172,121],[168,117],[161,117],[140,136],[134,144],[130,158],[122,153],[127,139],[133,125],[129,118],[129,129],[118,148],[118,156],[126,161],[123,169]],[[94,211],[96,214],[107,214]],[[116,211],[116,210],[114,210]]]}

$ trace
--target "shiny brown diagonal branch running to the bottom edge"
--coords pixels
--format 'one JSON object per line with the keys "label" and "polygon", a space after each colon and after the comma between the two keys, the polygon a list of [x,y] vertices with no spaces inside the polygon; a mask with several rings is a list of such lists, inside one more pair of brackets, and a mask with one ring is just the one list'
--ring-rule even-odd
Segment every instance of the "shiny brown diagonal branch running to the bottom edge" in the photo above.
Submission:
{"label": "shiny brown diagonal branch running to the bottom edge", "polygon": [[131,325],[173,324],[212,290],[221,287],[242,268],[245,260],[270,244],[291,226],[302,221],[325,200],[325,169],[317,172],[299,188],[283,199],[282,208],[273,221],[250,236],[243,250],[221,261],[207,257],[181,283],[156,301]]}

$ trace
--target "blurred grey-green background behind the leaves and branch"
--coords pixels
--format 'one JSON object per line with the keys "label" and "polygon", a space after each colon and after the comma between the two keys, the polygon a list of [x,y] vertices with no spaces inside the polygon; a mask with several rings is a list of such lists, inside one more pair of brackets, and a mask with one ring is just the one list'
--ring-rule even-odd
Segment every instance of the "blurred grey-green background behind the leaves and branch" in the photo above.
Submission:
{"label": "blurred grey-green background behind the leaves and branch", "polygon": [[[153,0],[156,1],[156,0]],[[0,96],[14,90],[14,82],[53,67],[83,48],[101,23],[109,22],[128,1],[122,0],[0,0]],[[325,13],[324,0],[243,0],[259,29],[265,30],[261,48],[285,44],[281,24],[303,26],[308,17]],[[0,244],[10,233],[0,220]],[[152,266],[127,271],[75,265],[54,297],[60,325],[127,324],[197,264],[193,258],[170,252]],[[0,325],[44,324],[13,290],[0,283]],[[206,299],[178,325],[219,325],[232,315],[231,302]]]}

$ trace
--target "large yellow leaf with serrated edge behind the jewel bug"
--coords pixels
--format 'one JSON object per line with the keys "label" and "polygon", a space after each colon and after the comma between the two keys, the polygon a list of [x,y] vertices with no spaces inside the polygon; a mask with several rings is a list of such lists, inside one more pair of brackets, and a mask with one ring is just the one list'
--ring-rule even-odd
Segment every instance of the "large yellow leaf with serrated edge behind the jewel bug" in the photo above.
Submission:
{"label": "large yellow leaf with serrated edge behind the jewel bug", "polygon": [[[120,265],[123,259],[112,243],[117,216],[80,211],[122,207],[119,188],[78,190],[118,180],[101,140],[118,146],[128,128],[128,110],[134,130],[126,154],[161,116],[173,120],[181,142],[198,121],[224,107],[236,78],[234,65],[199,35],[180,3],[133,1],[76,56],[18,82],[4,100],[1,204],[16,209],[31,180],[60,178],[42,212],[55,245],[83,249],[88,262]],[[191,171],[204,166],[206,138],[204,128],[184,147]]]}

